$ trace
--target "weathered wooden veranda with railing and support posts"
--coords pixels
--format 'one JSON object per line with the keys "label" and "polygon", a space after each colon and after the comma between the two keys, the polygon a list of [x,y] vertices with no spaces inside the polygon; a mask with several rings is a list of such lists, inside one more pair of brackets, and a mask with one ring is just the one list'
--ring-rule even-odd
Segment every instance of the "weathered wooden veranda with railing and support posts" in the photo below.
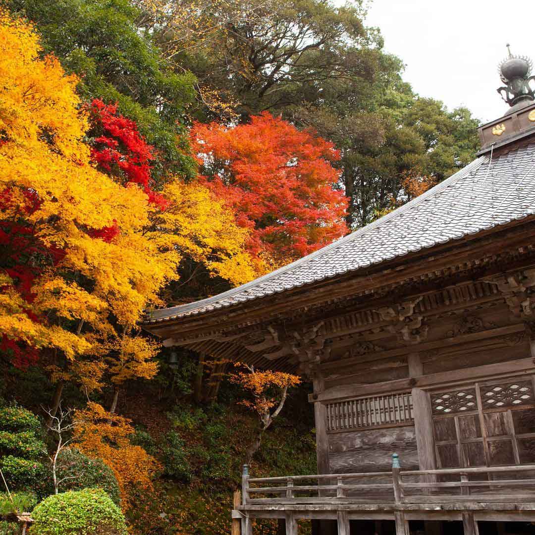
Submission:
{"label": "weathered wooden veranda with railing and support posts", "polygon": [[244,466],[232,516],[241,535],[253,535],[256,518],[284,519],[287,535],[299,519],[336,521],[339,535],[351,520],[394,521],[396,535],[413,520],[461,521],[465,535],[478,535],[479,521],[535,522],[535,464],[403,470],[392,457],[389,472],[251,478]]}

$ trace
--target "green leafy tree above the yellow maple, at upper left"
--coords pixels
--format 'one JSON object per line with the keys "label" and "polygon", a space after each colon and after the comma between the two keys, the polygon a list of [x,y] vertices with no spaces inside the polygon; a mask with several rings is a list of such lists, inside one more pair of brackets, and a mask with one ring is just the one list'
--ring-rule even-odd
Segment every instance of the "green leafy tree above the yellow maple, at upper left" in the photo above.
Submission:
{"label": "green leafy tree above the yellow maple, at upper left", "polygon": [[187,156],[185,106],[195,98],[195,77],[166,67],[151,36],[139,31],[139,11],[129,0],[6,0],[34,21],[45,50],[79,75],[79,91],[91,101],[119,105],[158,152],[155,178],[165,171],[192,177]]}

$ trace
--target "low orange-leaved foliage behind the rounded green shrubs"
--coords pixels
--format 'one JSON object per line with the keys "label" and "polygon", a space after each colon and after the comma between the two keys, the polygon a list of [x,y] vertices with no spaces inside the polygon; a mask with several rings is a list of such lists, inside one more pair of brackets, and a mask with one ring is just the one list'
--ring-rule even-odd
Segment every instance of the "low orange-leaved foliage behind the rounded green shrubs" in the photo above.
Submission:
{"label": "low orange-leaved foliage behind the rounded green shrubs", "polygon": [[133,446],[129,436],[134,432],[131,420],[111,414],[101,405],[89,402],[74,415],[74,440],[78,449],[90,458],[100,458],[117,478],[121,507],[132,504],[136,487],[152,490],[152,477],[160,466],[141,446]]}

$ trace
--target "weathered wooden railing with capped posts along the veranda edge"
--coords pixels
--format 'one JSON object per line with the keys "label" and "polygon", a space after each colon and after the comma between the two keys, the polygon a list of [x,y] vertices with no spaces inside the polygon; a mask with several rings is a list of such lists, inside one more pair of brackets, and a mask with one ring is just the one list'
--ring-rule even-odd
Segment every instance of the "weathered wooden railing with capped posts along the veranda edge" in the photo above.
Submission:
{"label": "weathered wooden railing with capped posts along the veranda edge", "polygon": [[[397,454],[392,460],[391,472],[266,478],[250,478],[244,465],[242,505],[333,500],[343,503],[535,502],[535,464],[403,471]],[[504,476],[506,479],[497,479]],[[482,477],[485,479],[475,479]]]}

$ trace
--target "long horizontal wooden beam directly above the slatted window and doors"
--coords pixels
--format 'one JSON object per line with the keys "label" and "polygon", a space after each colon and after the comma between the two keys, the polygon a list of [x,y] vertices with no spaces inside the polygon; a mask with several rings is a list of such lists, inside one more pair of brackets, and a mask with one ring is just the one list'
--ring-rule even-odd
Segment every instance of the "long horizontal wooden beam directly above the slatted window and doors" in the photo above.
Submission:
{"label": "long horizontal wooden beam directly above the slatted window and doors", "polygon": [[532,357],[520,358],[515,361],[486,364],[473,368],[464,368],[439,373],[430,373],[420,377],[385,381],[384,383],[366,383],[360,385],[342,385],[327,388],[317,395],[309,395],[309,401],[338,401],[371,394],[395,393],[407,391],[413,387],[431,388],[433,386],[447,386],[449,384],[471,381],[476,378],[492,378],[507,375],[509,373],[532,372],[535,370],[535,362]]}

